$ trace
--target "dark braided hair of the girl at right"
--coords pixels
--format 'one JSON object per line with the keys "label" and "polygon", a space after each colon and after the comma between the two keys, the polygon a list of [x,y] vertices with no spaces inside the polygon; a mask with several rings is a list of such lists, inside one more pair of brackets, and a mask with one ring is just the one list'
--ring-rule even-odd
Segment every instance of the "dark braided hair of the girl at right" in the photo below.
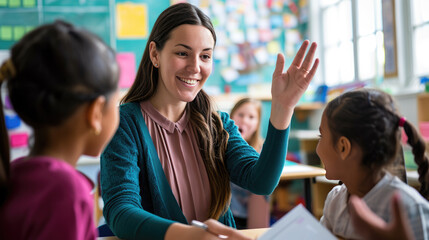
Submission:
{"label": "dark braided hair of the girl at right", "polygon": [[[344,93],[326,106],[328,126],[336,142],[345,136],[356,142],[363,151],[362,164],[371,170],[388,167],[395,160],[400,148],[401,130],[393,98],[375,89],[359,89]],[[414,126],[403,122],[403,128],[418,165],[420,193],[429,197],[428,158],[425,143]]]}

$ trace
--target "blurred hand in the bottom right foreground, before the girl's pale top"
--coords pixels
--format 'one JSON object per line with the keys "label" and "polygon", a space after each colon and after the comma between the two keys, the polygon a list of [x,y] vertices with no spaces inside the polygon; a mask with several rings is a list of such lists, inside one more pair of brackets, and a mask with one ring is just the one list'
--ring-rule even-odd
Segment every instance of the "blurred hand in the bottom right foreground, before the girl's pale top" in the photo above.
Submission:
{"label": "blurred hand in the bottom right foreground, before the girl's pale top", "polygon": [[356,196],[350,197],[350,214],[356,231],[365,239],[412,240],[413,235],[405,211],[402,209],[399,195],[395,193],[392,199],[392,221],[387,224],[375,215]]}

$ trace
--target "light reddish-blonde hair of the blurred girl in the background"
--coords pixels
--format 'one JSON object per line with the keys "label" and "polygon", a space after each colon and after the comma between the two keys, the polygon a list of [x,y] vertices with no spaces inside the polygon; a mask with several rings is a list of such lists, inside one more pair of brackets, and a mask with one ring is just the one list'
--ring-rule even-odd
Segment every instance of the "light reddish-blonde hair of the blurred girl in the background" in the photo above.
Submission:
{"label": "light reddish-blonde hair of the blurred girl in the background", "polygon": [[261,137],[261,113],[262,113],[262,103],[253,98],[242,98],[240,99],[231,110],[231,118],[234,117],[235,112],[244,104],[251,103],[258,112],[258,127],[256,131],[250,137],[250,140],[247,142],[250,146],[252,146],[256,151],[260,151],[263,143],[263,139]]}

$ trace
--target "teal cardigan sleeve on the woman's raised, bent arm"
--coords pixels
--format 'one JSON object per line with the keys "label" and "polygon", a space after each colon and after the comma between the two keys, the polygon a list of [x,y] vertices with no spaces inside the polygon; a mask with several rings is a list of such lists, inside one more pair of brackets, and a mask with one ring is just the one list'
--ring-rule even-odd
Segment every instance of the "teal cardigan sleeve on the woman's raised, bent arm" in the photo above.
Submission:
{"label": "teal cardigan sleeve on the woman's raised, bent arm", "polygon": [[221,112],[224,128],[229,133],[226,165],[231,182],[255,194],[271,194],[280,180],[286,159],[289,128],[277,130],[271,122],[259,155],[241,137],[234,121]]}

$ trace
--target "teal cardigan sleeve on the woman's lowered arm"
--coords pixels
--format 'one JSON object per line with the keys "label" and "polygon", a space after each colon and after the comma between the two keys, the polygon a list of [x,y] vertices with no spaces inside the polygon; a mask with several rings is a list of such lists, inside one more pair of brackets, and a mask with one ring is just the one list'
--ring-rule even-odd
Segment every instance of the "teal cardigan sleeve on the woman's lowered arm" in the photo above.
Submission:
{"label": "teal cardigan sleeve on the woman's lowered arm", "polygon": [[103,213],[119,238],[164,239],[174,222],[145,211],[141,205],[138,128],[131,111],[121,108],[119,128],[101,155]]}

